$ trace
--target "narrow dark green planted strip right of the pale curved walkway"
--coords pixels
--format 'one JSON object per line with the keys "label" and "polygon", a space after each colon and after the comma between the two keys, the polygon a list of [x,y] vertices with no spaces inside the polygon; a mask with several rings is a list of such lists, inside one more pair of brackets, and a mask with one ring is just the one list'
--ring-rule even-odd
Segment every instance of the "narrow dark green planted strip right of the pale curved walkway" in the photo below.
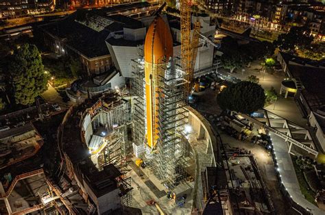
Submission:
{"label": "narrow dark green planted strip right of the pale curved walkway", "polygon": [[299,181],[300,190],[301,190],[302,194],[308,201],[310,201],[311,203],[316,205],[316,203],[315,203],[316,194],[315,194],[315,192],[313,192],[313,190],[311,190],[311,188],[309,188],[309,185],[307,184],[306,179],[304,179],[304,173],[302,172],[302,170],[300,170],[299,166],[296,164],[297,157],[291,156],[291,159],[292,159],[292,163],[295,168],[295,171],[296,171],[296,175],[297,175],[297,178]]}

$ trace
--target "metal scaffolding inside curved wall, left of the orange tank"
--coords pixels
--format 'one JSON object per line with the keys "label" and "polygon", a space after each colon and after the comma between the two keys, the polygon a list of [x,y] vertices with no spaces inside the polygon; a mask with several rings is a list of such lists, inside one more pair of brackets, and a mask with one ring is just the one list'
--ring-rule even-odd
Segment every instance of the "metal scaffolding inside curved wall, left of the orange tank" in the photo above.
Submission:
{"label": "metal scaffolding inside curved wall, left of the orange tank", "polygon": [[[114,164],[121,171],[119,177],[119,188],[121,204],[132,207],[132,186],[130,177],[126,178],[128,172],[126,156],[130,150],[128,140],[128,126],[130,123],[130,102],[123,99],[115,92],[104,94],[99,100],[84,113],[84,123],[87,114],[90,115],[88,123],[91,127],[84,128],[84,135],[89,142],[90,136],[95,135],[94,131],[104,129],[108,132],[103,140],[98,144],[95,151],[91,151],[91,159],[99,170],[104,166]],[[89,144],[89,143],[88,143]],[[88,145],[89,147],[89,145]]]}

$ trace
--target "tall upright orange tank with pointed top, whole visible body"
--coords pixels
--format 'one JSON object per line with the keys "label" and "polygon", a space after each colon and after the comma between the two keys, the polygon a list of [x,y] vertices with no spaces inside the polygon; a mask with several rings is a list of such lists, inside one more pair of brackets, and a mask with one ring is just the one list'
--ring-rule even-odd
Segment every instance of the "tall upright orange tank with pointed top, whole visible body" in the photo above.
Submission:
{"label": "tall upright orange tank with pointed top, whole visible body", "polygon": [[145,36],[145,99],[147,112],[147,144],[154,149],[158,139],[158,97],[163,64],[173,57],[173,39],[169,27],[159,15],[150,24]]}

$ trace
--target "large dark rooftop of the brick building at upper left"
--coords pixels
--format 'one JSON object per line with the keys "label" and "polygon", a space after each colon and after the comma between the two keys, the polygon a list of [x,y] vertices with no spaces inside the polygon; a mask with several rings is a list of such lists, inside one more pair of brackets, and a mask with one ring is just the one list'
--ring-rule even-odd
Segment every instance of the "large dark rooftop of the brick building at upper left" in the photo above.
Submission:
{"label": "large dark rooftop of the brick building at upper left", "polygon": [[147,2],[130,3],[99,10],[77,10],[66,18],[41,25],[40,28],[60,38],[87,58],[95,58],[109,54],[105,40],[111,32],[122,31],[124,27],[131,29],[142,27],[141,21],[116,13],[147,5],[149,5]]}

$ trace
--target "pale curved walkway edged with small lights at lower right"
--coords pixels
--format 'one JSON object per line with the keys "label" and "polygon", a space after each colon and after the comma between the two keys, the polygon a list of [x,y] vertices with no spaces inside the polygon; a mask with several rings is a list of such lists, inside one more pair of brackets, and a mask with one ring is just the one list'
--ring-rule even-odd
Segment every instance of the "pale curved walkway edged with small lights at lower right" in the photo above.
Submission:
{"label": "pale curved walkway edged with small lights at lower right", "polygon": [[300,191],[300,185],[293,167],[291,155],[288,153],[289,146],[287,142],[273,133],[271,133],[271,137],[281,182],[287,188],[287,192],[293,201],[304,208],[309,208],[312,214],[324,214],[324,211],[304,199]]}

